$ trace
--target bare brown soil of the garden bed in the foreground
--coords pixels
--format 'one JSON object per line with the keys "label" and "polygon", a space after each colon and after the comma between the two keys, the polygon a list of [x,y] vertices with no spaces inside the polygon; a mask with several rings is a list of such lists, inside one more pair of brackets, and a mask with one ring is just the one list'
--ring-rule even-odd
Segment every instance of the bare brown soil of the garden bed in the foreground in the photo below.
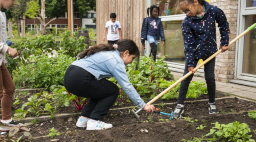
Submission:
{"label": "bare brown soil of the garden bed in the foreground", "polygon": [[[30,127],[33,137],[46,136],[49,134],[49,128],[52,127],[58,130],[59,136],[23,139],[23,141],[50,142],[51,139],[59,139],[59,142],[180,142],[181,139],[190,139],[192,136],[200,137],[209,133],[209,129],[213,127],[212,123],[228,124],[234,121],[247,123],[251,130],[256,130],[256,120],[248,117],[247,112],[230,114],[230,112],[241,110],[254,110],[256,109],[255,103],[238,99],[219,100],[216,103],[220,113],[225,114],[209,114],[207,102],[185,104],[183,116],[190,117],[192,120],[199,120],[199,122],[194,123],[194,126],[188,125],[188,122],[183,119],[160,122],[160,119],[168,120],[169,117],[146,112],[140,114],[142,122],[138,122],[129,109],[122,109],[109,111],[104,117],[104,122],[113,124],[113,128],[108,130],[87,131],[86,128],[77,128],[75,124],[79,116],[65,117],[47,122],[38,122]],[[160,105],[157,107],[163,112],[170,113],[175,105]],[[203,125],[203,120],[206,120],[207,127],[203,131],[196,129],[199,125]],[[141,129],[146,129],[148,133],[141,132]],[[252,139],[256,139],[253,132],[250,134],[253,135]]]}

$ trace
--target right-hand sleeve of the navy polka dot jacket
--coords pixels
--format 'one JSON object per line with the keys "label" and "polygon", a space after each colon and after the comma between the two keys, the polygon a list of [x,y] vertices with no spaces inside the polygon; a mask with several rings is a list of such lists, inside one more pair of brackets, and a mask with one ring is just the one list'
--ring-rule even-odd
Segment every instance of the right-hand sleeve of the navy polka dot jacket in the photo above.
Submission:
{"label": "right-hand sleeve of the navy polka dot jacket", "polygon": [[229,24],[227,22],[226,15],[220,8],[217,9],[216,22],[218,23],[218,27],[220,28],[221,46],[228,46],[230,33]]}

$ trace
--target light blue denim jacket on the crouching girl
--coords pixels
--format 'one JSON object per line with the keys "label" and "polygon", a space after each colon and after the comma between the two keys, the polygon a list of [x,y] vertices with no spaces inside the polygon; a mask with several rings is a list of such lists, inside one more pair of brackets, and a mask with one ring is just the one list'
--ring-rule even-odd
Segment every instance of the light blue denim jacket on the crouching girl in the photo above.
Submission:
{"label": "light blue denim jacket on the crouching girl", "polygon": [[130,97],[132,102],[140,108],[144,108],[145,103],[134,89],[134,86],[130,83],[125,70],[124,61],[118,50],[98,52],[88,58],[84,57],[80,60],[76,60],[72,65],[87,70],[94,75],[97,80],[115,77],[116,81]]}

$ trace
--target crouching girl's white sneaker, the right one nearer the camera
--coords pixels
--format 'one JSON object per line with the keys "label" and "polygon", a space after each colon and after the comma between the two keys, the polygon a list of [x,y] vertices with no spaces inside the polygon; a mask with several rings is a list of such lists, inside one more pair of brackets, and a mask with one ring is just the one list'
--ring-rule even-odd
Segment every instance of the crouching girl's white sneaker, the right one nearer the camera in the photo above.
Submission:
{"label": "crouching girl's white sneaker, the right one nearer the camera", "polygon": [[112,127],[113,127],[112,124],[104,123],[99,120],[95,122],[91,122],[90,120],[88,120],[86,130],[103,130],[103,129],[108,129]]}

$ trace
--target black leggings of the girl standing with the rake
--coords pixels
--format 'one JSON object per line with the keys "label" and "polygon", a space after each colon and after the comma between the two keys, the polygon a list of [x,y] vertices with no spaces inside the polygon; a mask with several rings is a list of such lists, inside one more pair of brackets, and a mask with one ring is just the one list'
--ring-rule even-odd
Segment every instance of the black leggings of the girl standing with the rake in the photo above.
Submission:
{"label": "black leggings of the girl standing with the rake", "polygon": [[[206,60],[206,59],[203,59]],[[195,65],[198,63],[199,60],[195,60]],[[216,84],[215,84],[215,74],[214,74],[214,67],[215,67],[215,58],[210,60],[208,63],[204,65],[204,74],[205,74],[205,80],[207,84],[207,91],[208,91],[208,97],[209,97],[209,103],[215,102],[215,92],[216,92]],[[184,75],[186,75],[189,72],[189,67],[185,65]],[[193,78],[193,75],[190,75],[183,81],[181,81],[180,84],[180,92],[179,92],[179,98],[178,98],[178,104],[184,104],[184,100],[186,98],[186,94],[189,89],[190,81]]]}

